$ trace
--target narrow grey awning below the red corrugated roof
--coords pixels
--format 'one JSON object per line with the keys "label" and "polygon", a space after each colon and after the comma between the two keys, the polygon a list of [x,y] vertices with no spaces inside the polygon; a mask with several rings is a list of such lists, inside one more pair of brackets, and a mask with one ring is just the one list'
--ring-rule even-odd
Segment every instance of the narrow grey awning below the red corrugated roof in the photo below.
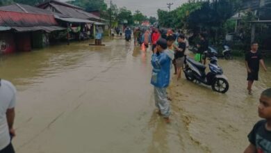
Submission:
{"label": "narrow grey awning below the red corrugated roof", "polygon": [[46,31],[47,33],[50,33],[52,31],[65,30],[66,28],[63,28],[61,26],[12,26],[11,29],[15,29],[18,32],[43,30]]}

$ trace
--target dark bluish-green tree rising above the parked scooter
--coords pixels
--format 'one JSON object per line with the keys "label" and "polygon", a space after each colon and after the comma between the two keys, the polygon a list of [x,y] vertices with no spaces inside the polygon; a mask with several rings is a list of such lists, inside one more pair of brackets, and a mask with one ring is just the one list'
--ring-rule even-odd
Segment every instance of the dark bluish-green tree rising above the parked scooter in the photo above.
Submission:
{"label": "dark bluish-green tree rising above the parked scooter", "polygon": [[237,9],[236,0],[213,0],[202,3],[202,7],[190,13],[186,28],[194,31],[208,32],[213,44],[224,39],[224,23],[232,17]]}

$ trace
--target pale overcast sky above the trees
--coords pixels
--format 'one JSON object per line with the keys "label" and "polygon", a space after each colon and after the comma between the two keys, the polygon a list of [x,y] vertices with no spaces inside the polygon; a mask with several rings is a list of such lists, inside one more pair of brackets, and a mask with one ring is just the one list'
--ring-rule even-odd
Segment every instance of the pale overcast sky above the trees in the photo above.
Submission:
{"label": "pale overcast sky above the trees", "polygon": [[[60,0],[60,1],[67,1],[67,0]],[[110,0],[105,0],[110,4]],[[154,16],[157,17],[157,10],[158,8],[163,10],[169,10],[167,8],[167,3],[174,3],[171,9],[174,9],[181,5],[188,0],[112,0],[113,3],[117,4],[117,6],[123,7],[125,6],[133,13],[135,10],[140,10],[143,14],[147,16]]]}

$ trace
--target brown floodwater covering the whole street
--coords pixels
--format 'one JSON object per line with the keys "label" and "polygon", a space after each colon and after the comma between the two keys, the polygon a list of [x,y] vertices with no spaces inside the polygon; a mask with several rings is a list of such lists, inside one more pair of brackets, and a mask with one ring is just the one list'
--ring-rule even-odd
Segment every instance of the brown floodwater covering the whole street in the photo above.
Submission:
{"label": "brown floodwater covering the whole street", "polygon": [[18,90],[18,153],[243,152],[259,120],[258,97],[271,86],[270,61],[253,96],[242,59],[219,61],[230,84],[225,95],[173,77],[165,124],[155,112],[150,51],[120,38],[89,43],[0,57],[0,77]]}

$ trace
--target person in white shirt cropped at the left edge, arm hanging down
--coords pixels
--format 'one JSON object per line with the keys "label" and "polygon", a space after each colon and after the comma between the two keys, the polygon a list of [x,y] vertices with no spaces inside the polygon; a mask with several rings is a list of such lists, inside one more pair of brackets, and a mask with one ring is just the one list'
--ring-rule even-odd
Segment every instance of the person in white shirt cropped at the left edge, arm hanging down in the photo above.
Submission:
{"label": "person in white shirt cropped at the left edge, arm hanging down", "polygon": [[11,138],[15,136],[16,88],[12,83],[0,79],[0,153],[15,153]]}

